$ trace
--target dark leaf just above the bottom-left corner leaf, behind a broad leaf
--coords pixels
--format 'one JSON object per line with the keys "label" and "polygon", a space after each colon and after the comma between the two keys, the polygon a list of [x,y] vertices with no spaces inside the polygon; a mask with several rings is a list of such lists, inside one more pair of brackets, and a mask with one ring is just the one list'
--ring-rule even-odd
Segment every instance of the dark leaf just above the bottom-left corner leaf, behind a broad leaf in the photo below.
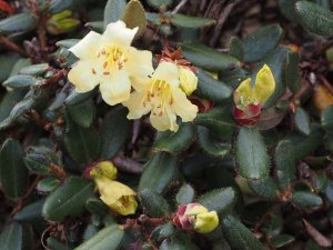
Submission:
{"label": "dark leaf just above the bottom-left corner leaf, behind a broad leaf", "polygon": [[31,222],[34,220],[42,219],[42,207],[46,202],[46,199],[34,201],[30,204],[27,204],[22,210],[20,210],[16,216],[14,220],[20,222]]}

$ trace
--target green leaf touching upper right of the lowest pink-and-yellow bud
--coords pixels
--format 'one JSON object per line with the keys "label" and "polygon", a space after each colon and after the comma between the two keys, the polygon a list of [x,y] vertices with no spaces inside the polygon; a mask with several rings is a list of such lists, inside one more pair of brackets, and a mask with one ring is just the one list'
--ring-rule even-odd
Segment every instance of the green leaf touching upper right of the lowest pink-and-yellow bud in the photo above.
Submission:
{"label": "green leaf touching upper right of the lowest pink-and-yellow bud", "polygon": [[236,192],[233,188],[215,189],[202,194],[196,201],[210,211],[225,214],[232,211],[236,202]]}

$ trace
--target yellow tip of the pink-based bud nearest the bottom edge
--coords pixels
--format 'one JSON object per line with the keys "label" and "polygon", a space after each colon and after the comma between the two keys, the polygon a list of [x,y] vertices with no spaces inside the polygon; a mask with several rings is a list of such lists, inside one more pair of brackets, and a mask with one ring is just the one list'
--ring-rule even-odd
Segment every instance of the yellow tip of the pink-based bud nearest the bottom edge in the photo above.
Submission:
{"label": "yellow tip of the pink-based bud nearest the bottom edge", "polygon": [[194,230],[198,232],[211,232],[219,226],[216,211],[202,212],[196,216]]}

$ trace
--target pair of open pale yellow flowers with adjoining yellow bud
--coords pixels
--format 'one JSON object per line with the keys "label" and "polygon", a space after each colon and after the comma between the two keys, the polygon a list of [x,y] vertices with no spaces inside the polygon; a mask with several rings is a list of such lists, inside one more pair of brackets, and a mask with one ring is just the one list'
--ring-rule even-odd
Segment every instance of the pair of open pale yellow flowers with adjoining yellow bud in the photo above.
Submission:
{"label": "pair of open pale yellow flowers with adjoining yellow bud", "polygon": [[108,104],[128,107],[129,119],[150,113],[154,128],[176,131],[176,117],[188,122],[198,113],[188,99],[198,84],[194,69],[185,60],[162,54],[154,70],[152,53],[131,47],[137,31],[117,21],[108,24],[103,34],[88,33],[70,49],[80,60],[68,78],[78,92],[99,84]]}

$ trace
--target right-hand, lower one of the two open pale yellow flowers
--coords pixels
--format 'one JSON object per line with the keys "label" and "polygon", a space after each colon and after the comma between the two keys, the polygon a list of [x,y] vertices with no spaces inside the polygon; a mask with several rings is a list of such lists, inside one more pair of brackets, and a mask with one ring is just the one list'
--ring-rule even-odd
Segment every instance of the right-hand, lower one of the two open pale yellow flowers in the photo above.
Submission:
{"label": "right-hand, lower one of the two open pale yellow flowers", "polygon": [[184,122],[196,117],[198,107],[180,89],[179,69],[173,62],[162,61],[151,78],[139,79],[133,87],[135,91],[123,102],[130,110],[129,119],[151,112],[150,121],[155,129],[176,131],[176,116]]}

